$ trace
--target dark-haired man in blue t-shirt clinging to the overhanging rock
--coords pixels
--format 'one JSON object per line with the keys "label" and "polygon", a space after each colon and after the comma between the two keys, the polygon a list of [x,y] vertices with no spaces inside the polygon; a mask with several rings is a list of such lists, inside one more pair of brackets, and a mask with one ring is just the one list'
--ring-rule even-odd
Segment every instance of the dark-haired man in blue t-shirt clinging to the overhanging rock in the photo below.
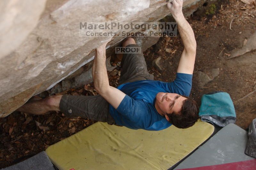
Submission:
{"label": "dark-haired man in blue t-shirt clinging to the overhanging rock", "polygon": [[[162,130],[172,124],[178,128],[193,126],[199,119],[198,106],[188,96],[196,58],[196,40],[191,26],[182,13],[182,0],[167,4],[178,24],[184,50],[176,79],[173,82],[154,81],[148,73],[143,54],[117,55],[112,64],[121,61],[119,85],[109,85],[106,69],[107,42],[96,49],[92,66],[96,96],[56,95],[28,102],[18,111],[44,114],[61,111],[68,117],[80,116],[131,129]],[[139,47],[128,38],[123,47]]]}

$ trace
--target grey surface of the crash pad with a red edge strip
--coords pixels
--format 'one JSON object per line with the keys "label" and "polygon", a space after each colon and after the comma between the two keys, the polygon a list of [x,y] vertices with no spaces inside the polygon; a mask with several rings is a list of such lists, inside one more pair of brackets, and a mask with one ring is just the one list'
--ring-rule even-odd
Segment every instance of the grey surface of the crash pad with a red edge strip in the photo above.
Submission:
{"label": "grey surface of the crash pad with a red edge strip", "polygon": [[247,132],[228,124],[192,153],[175,169],[220,165],[254,159],[244,154]]}

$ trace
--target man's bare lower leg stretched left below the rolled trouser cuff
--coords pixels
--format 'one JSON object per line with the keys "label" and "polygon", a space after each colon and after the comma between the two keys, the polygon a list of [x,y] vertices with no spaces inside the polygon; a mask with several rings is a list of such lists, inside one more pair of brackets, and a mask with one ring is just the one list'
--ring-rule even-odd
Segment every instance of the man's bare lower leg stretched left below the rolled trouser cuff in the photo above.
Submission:
{"label": "man's bare lower leg stretched left below the rolled trouser cuff", "polygon": [[62,95],[50,96],[45,99],[34,100],[25,103],[17,111],[33,115],[42,115],[48,111],[60,111],[60,100]]}

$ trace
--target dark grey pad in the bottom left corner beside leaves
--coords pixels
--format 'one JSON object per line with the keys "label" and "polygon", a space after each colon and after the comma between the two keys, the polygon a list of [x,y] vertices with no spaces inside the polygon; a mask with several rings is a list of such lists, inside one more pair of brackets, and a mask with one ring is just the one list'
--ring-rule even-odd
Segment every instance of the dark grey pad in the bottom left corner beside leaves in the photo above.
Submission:
{"label": "dark grey pad in the bottom left corner beside leaves", "polygon": [[1,170],[55,170],[46,152],[40,152],[18,164],[3,168]]}

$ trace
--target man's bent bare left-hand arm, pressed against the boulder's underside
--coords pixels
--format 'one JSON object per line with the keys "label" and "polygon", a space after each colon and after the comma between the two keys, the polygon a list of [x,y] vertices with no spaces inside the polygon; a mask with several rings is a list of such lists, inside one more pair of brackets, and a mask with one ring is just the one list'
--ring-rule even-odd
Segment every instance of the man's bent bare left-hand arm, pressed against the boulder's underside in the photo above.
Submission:
{"label": "man's bent bare left-hand arm, pressed against the boulder's underside", "polygon": [[116,109],[124,99],[125,94],[109,85],[106,68],[107,43],[108,42],[104,43],[95,51],[95,58],[92,65],[92,78],[97,92]]}

